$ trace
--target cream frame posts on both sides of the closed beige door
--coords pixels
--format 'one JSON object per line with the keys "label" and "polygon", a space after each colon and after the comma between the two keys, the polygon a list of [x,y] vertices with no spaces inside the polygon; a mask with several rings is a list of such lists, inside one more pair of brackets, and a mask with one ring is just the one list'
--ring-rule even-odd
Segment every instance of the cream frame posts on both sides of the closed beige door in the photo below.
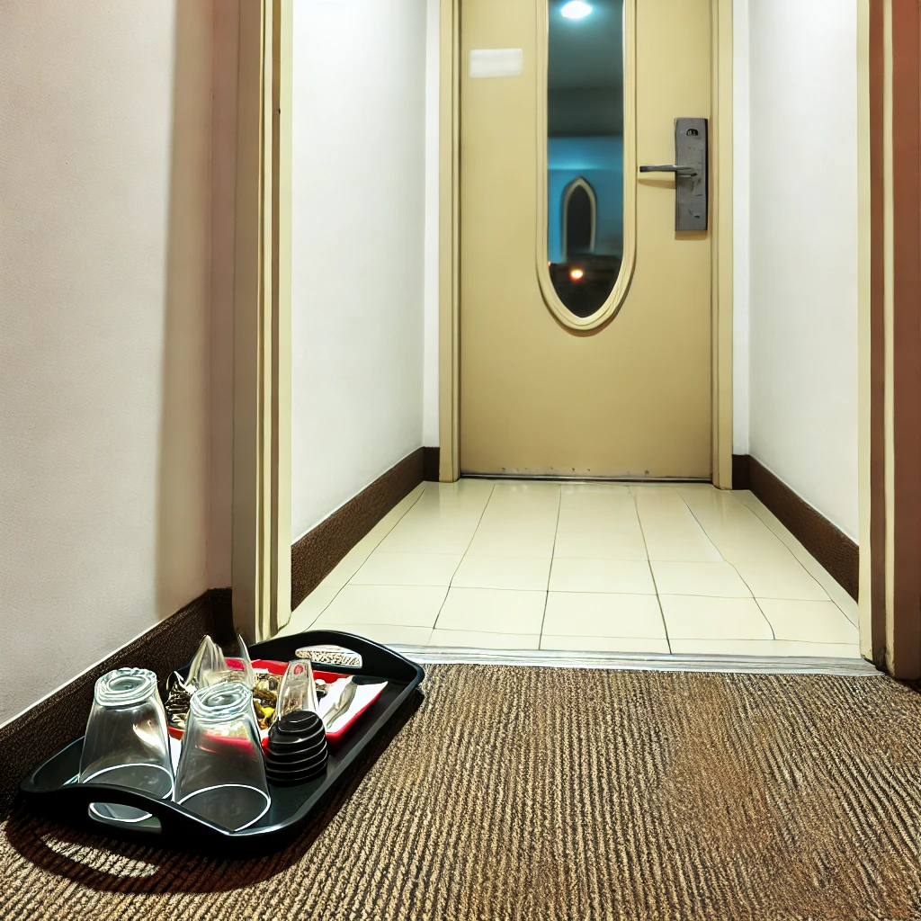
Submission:
{"label": "cream frame posts on both sides of the closed beige door", "polygon": [[[461,2],[439,0],[438,479],[461,476]],[[732,488],[732,0],[710,0],[711,467]]]}

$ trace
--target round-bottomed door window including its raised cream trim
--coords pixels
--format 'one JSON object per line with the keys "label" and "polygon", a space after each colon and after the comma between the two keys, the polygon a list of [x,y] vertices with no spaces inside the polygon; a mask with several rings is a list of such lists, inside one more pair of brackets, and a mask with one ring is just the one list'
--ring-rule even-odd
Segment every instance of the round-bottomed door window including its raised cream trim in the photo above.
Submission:
{"label": "round-bottomed door window including its raised cream trim", "polygon": [[635,253],[635,0],[537,0],[538,274],[548,307],[573,329],[620,306]]}

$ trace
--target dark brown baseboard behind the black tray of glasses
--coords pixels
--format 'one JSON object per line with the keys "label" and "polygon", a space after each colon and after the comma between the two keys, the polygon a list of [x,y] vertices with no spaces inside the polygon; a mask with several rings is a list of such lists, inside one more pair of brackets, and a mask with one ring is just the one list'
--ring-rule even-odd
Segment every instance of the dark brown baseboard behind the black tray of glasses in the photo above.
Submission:
{"label": "dark brown baseboard behind the black tray of glasses", "polygon": [[23,716],[0,728],[0,820],[17,798],[19,781],[54,752],[83,735],[93,685],[112,669],[132,667],[157,672],[160,693],[167,676],[195,654],[204,634],[217,643],[233,639],[230,589],[211,589],[95,668],[78,676]]}

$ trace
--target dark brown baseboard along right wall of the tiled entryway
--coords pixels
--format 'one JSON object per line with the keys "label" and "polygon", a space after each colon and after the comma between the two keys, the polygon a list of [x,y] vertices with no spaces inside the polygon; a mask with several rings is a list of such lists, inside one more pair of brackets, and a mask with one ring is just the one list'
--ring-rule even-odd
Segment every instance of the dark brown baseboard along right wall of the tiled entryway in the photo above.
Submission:
{"label": "dark brown baseboard along right wall of the tiled entryway", "polygon": [[[738,481],[737,461],[740,470]],[[751,489],[847,594],[857,600],[859,551],[857,544],[845,533],[748,455],[732,458],[732,488]]]}

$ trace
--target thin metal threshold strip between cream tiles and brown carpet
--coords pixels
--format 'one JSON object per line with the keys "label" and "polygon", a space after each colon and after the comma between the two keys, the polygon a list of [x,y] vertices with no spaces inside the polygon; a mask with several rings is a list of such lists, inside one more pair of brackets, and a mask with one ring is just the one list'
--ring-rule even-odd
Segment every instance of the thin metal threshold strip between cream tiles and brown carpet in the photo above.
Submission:
{"label": "thin metal threshold strip between cream tiles and brown carpet", "polygon": [[765,675],[846,675],[882,677],[864,659],[824,659],[806,656],[688,656],[636,652],[557,652],[550,649],[472,649],[468,647],[392,647],[420,665],[542,666],[551,669],[610,669],[627,671],[723,671]]}

